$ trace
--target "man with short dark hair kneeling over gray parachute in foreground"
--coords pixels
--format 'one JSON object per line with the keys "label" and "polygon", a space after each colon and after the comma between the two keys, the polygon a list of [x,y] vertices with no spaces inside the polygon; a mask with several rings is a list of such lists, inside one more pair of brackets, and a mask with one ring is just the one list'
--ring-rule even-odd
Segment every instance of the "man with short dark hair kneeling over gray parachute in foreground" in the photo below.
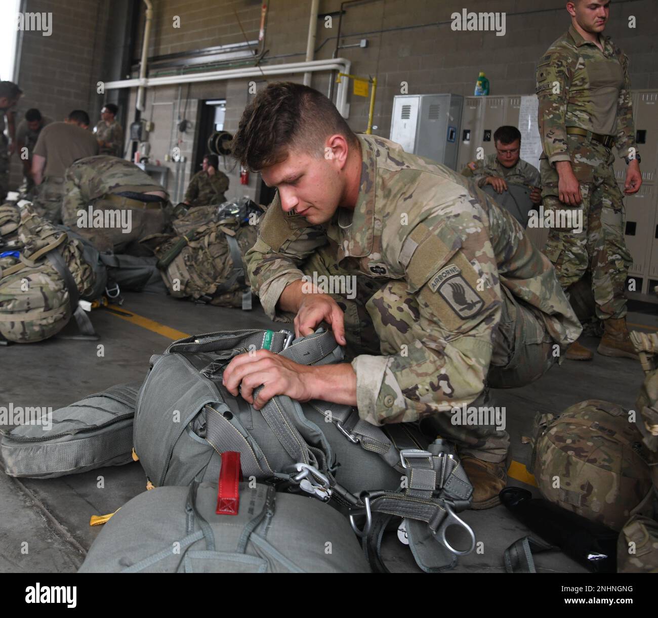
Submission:
{"label": "man with short dark hair kneeling over gray parachute in foreground", "polygon": [[[449,412],[482,406],[487,385],[538,379],[578,337],[549,261],[467,179],[387,139],[355,135],[309,87],[263,89],[233,150],[278,188],[246,256],[266,314],[293,321],[297,335],[329,323],[351,364],[306,367],[259,350],[232,360],[228,389],[241,386],[252,402],[264,385],[256,408],[274,394],[349,404],[374,425],[432,417],[460,448],[474,508],[497,504],[509,435],[454,425]],[[314,291],[303,275],[334,275],[332,287],[344,289]]]}

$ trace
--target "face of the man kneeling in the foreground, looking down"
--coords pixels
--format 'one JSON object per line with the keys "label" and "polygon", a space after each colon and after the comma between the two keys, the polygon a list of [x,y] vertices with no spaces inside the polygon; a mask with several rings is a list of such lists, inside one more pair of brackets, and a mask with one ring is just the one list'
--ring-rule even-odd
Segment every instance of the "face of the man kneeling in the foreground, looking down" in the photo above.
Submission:
{"label": "face of the man kneeling in the foreground, looking down", "polygon": [[262,170],[268,187],[279,190],[284,212],[295,211],[309,223],[328,222],[344,193],[342,166],[336,158],[289,152],[288,158]]}

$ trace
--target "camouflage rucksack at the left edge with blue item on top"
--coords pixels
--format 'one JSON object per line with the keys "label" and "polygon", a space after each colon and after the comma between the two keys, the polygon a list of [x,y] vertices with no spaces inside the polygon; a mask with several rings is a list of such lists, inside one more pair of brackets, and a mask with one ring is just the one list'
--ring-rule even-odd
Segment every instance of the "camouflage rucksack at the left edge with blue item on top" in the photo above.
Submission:
{"label": "camouflage rucksack at the left edge with blue item on top", "polygon": [[[11,220],[3,206],[0,223]],[[89,318],[78,304],[92,295],[96,272],[84,258],[82,242],[68,237],[34,214],[20,210],[11,250],[0,252],[0,339],[33,343],[57,335],[71,316],[84,337],[96,338]],[[4,237],[3,237],[4,239]]]}

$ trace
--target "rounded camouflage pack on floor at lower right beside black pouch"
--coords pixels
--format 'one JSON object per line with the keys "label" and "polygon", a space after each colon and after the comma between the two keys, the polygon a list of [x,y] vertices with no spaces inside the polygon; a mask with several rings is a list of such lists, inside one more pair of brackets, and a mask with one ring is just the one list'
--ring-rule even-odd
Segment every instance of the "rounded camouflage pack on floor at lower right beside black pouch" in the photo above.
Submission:
{"label": "rounded camouflage pack on floor at lower right beside black pouch", "polygon": [[532,467],[544,497],[617,531],[631,515],[651,514],[649,454],[629,418],[601,400],[538,414]]}

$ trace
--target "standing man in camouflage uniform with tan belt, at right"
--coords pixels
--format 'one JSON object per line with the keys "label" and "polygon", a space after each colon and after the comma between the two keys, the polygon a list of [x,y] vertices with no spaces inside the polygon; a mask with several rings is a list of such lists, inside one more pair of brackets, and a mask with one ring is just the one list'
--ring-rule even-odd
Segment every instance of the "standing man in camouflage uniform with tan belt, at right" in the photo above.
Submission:
{"label": "standing man in camouflage uniform with tan belt, at right", "polygon": [[[542,197],[546,210],[572,209],[565,227],[550,230],[545,254],[565,290],[591,269],[596,315],[605,326],[599,354],[638,358],[626,329],[624,283],[632,258],[624,243],[624,203],[613,171],[613,146],[628,164],[626,195],[640,189],[642,175],[628,57],[609,37],[599,36],[609,4],[567,2],[571,27],[537,67]],[[578,210],[580,233],[573,229]],[[593,354],[576,341],[567,358],[591,360]]]}

